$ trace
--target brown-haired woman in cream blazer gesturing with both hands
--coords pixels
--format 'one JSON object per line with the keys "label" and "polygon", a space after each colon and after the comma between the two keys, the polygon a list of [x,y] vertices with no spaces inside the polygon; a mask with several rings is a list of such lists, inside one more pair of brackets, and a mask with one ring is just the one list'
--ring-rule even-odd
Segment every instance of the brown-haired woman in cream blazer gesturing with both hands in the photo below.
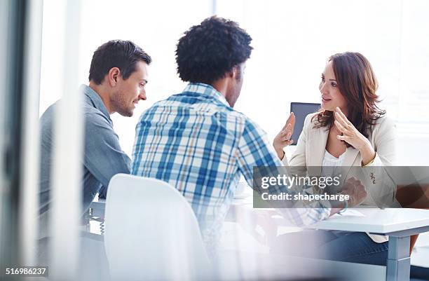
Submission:
{"label": "brown-haired woman in cream blazer gesturing with both hands", "polygon": [[[367,188],[368,196],[363,205],[397,206],[396,185],[388,169],[395,161],[395,126],[386,111],[377,107],[377,87],[371,64],[360,53],[329,57],[319,85],[321,109],[306,116],[292,157],[288,160],[283,148],[292,143],[293,113],[273,141],[282,163],[311,167],[307,172],[312,176],[332,175],[334,167],[341,166],[343,181],[355,177]],[[353,169],[353,166],[361,168]],[[385,236],[315,231],[304,234],[306,242],[312,235],[318,235],[319,244],[313,245],[318,249],[307,249],[304,255],[322,253],[321,258],[386,263],[388,242]]]}

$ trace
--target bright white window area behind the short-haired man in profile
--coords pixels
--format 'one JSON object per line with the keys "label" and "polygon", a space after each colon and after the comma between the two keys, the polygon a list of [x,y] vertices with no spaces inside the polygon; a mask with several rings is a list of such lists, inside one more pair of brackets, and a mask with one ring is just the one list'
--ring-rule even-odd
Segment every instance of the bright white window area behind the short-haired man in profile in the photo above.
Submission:
{"label": "bright white window area behind the short-haired man in profile", "polygon": [[[62,1],[44,1],[43,50],[41,66],[40,114],[61,96],[61,41],[64,29],[57,25]],[[81,4],[80,83],[88,84],[91,58],[95,49],[112,39],[131,40],[141,46],[153,62],[149,67],[147,101],[139,102],[132,118],[112,115],[114,128],[123,150],[132,152],[135,124],[144,109],[158,100],[181,91],[185,84],[176,74],[175,46],[191,25],[207,18],[212,11],[210,0],[138,1],[91,0]],[[76,85],[76,93],[79,85]]]}

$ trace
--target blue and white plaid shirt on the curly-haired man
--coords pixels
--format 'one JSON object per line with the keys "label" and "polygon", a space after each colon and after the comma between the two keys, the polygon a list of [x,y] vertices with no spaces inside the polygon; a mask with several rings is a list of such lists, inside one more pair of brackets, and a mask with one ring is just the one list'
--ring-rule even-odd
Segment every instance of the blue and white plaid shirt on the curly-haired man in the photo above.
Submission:
{"label": "blue and white plaid shirt on the curly-haired man", "polygon": [[[184,91],[144,111],[136,127],[132,174],[175,186],[189,201],[207,247],[214,247],[243,174],[254,166],[282,166],[264,130],[232,109],[212,86]],[[283,209],[297,225],[329,216],[329,207]]]}

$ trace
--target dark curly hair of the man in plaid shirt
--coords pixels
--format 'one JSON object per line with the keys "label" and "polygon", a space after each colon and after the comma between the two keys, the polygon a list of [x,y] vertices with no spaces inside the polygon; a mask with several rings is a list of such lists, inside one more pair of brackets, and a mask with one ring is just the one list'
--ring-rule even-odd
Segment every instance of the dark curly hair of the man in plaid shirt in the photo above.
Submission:
{"label": "dark curly hair of the man in plaid shirt", "polygon": [[250,41],[252,38],[236,22],[207,18],[179,39],[177,73],[183,81],[211,84],[250,57]]}

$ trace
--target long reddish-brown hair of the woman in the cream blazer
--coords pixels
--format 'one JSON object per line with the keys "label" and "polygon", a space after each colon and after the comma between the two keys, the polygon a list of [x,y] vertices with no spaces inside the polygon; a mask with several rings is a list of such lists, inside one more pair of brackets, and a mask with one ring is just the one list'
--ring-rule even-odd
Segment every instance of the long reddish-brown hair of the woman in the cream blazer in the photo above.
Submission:
{"label": "long reddish-brown hair of the woman in the cream blazer", "polygon": [[[346,99],[348,106],[348,120],[365,137],[369,136],[371,125],[386,114],[379,109],[379,96],[376,90],[379,87],[371,64],[360,53],[338,53],[329,57],[339,91]],[[317,119],[314,128],[331,128],[334,124],[334,113],[320,109],[319,114],[313,117]],[[346,146],[350,144],[346,142]]]}

